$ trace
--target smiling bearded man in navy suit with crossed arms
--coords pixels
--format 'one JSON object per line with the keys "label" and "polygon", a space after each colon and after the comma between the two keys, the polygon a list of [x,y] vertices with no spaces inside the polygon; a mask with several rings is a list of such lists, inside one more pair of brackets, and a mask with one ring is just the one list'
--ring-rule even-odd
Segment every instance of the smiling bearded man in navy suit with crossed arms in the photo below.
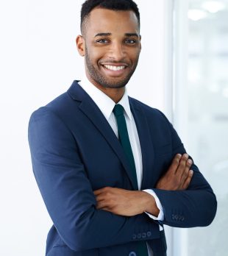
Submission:
{"label": "smiling bearded man in navy suit with crossed arms", "polygon": [[215,195],[165,116],[127,96],[141,47],[137,5],[85,1],[81,30],[85,76],[29,122],[54,223],[46,255],[166,255],[163,224],[207,226]]}

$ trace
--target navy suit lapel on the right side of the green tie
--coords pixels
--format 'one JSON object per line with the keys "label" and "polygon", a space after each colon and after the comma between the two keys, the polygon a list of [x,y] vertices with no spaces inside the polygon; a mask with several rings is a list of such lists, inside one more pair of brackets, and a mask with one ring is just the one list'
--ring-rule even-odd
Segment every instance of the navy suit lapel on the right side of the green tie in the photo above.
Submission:
{"label": "navy suit lapel on the right side of the green tie", "polygon": [[150,135],[149,124],[146,120],[146,115],[134,99],[129,97],[129,103],[132,115],[135,119],[135,124],[138,130],[140,147],[143,160],[143,180],[141,189],[152,188],[154,185],[152,166],[154,164],[154,146]]}

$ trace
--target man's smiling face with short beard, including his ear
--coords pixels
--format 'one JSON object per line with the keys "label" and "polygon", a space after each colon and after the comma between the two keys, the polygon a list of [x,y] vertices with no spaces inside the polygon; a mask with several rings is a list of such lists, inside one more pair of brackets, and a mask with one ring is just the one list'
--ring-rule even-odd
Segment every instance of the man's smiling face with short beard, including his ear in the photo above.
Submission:
{"label": "man's smiling face with short beard, including his ear", "polygon": [[76,38],[86,75],[100,90],[124,88],[140,54],[138,19],[133,11],[96,8]]}

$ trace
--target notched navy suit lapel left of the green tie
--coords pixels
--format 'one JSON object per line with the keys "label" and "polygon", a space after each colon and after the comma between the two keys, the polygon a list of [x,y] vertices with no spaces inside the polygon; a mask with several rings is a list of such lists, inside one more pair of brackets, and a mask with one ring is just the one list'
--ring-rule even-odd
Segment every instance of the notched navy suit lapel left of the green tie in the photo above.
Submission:
{"label": "notched navy suit lapel left of the green tie", "polygon": [[[96,129],[99,130],[104,139],[109,143],[115,154],[117,154],[119,160],[121,160],[124,169],[127,171],[127,175],[132,183],[134,190],[137,190],[134,185],[134,177],[132,177],[132,171],[130,170],[127,157],[124,154],[124,150],[121,147],[121,144],[118,141],[118,138],[115,136],[113,129],[110,127],[110,124],[107,122],[104,115],[99,110],[99,107],[93,102],[93,99],[88,96],[88,93],[85,92],[77,83],[74,81],[71,85],[71,88],[68,89],[68,94],[72,99],[81,102],[79,104],[79,109],[84,113]],[[92,131],[91,131],[92,132]]]}

